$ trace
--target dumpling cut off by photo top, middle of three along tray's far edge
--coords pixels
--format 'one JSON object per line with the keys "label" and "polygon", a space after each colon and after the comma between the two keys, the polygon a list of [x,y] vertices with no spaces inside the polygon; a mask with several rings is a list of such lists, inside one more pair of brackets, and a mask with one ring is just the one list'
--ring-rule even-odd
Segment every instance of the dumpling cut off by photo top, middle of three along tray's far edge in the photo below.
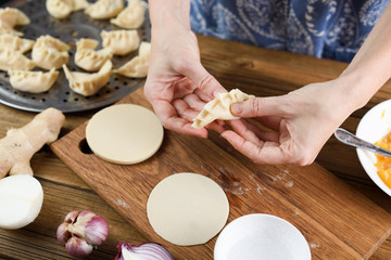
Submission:
{"label": "dumpling cut off by photo top, middle of three along tray's far edge", "polygon": [[91,18],[105,20],[115,17],[123,9],[123,0],[98,0],[89,5],[85,13]]}

